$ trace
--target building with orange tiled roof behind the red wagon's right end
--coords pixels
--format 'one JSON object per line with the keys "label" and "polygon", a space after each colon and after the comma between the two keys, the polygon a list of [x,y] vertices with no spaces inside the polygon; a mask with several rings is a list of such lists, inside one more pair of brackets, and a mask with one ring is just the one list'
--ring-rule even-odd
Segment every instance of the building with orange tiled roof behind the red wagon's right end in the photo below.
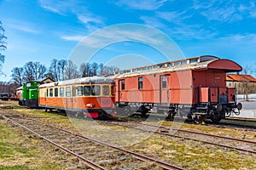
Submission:
{"label": "building with orange tiled roof behind the red wagon's right end", "polygon": [[238,94],[256,94],[256,79],[251,75],[228,74],[227,87],[236,88]]}

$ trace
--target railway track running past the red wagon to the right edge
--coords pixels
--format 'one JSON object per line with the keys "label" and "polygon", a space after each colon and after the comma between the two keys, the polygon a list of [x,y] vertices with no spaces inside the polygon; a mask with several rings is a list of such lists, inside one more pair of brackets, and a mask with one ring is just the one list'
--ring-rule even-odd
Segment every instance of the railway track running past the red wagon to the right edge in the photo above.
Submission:
{"label": "railway track running past the red wagon to the right edge", "polygon": [[[101,121],[102,122],[102,121]],[[157,133],[175,138],[189,139],[204,144],[213,144],[223,148],[239,150],[251,154],[256,154],[256,141],[247,139],[235,139],[231,137],[221,136],[217,134],[202,133],[193,130],[184,130],[179,128],[171,128],[165,126],[151,125],[144,122],[133,121],[104,121],[103,123],[114,124],[123,127],[136,128],[148,133]],[[172,133],[177,132],[177,133]],[[230,145],[231,144],[231,145]]]}

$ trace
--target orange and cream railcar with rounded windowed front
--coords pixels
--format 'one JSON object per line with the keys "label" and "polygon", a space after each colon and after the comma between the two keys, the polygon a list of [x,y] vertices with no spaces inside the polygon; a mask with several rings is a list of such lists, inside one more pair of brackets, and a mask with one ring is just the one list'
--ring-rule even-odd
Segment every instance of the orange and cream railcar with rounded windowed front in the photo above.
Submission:
{"label": "orange and cream railcar with rounded windowed front", "polygon": [[114,81],[108,77],[84,77],[39,86],[39,106],[46,110],[114,116]]}

